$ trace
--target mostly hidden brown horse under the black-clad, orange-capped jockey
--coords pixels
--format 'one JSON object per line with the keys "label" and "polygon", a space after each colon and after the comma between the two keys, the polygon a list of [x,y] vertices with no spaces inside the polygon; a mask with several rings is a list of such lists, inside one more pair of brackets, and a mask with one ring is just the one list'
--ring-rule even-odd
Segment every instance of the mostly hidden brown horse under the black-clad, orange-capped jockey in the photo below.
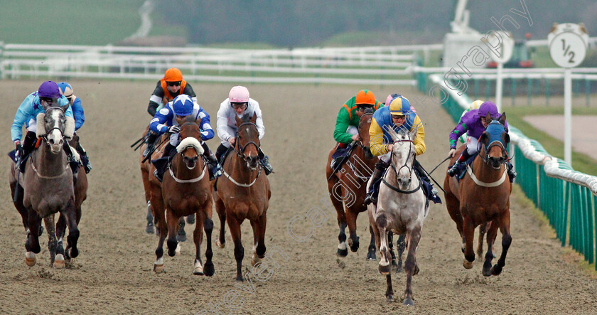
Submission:
{"label": "mostly hidden brown horse under the black-clad, orange-capped jockey", "polygon": [[[146,137],[146,135],[149,132],[149,126],[146,127],[145,132],[143,133],[144,136],[141,139],[144,139]],[[169,139],[169,135],[170,134],[163,134],[160,136],[158,141],[158,148],[160,149],[161,146],[166,146],[166,144],[168,144],[168,139]],[[139,139],[139,141],[141,141],[141,139]],[[149,144],[142,144],[140,146],[141,148],[141,152],[143,152],[146,148],[146,146],[148,146]],[[157,151],[154,151],[152,153],[158,153]],[[151,154],[151,153],[150,153]],[[143,181],[143,188],[144,188],[144,192],[145,192],[145,202],[147,204],[147,214],[146,214],[146,220],[147,220],[147,225],[145,226],[145,232],[147,234],[154,234],[154,232],[156,233],[156,235],[159,235],[159,230],[156,229],[154,230],[154,225],[157,223],[157,219],[154,217],[154,212],[153,210],[151,210],[151,201],[149,199],[149,197],[151,196],[151,185],[149,183],[149,180],[151,177],[154,177],[154,171],[156,170],[156,168],[151,164],[151,158],[156,157],[156,155],[151,154],[151,156],[149,156],[148,158],[146,158],[145,156],[143,156],[143,154],[141,154],[141,159],[139,160],[139,166],[141,169],[141,180]],[[158,156],[159,157],[159,156]],[[187,217],[187,222],[189,224],[193,224],[195,223],[195,217],[194,215],[189,215]],[[184,242],[186,240],[186,234],[185,234],[185,220],[184,218],[181,218],[181,220],[178,221],[178,235],[176,236],[176,240],[178,240],[179,242]]]}

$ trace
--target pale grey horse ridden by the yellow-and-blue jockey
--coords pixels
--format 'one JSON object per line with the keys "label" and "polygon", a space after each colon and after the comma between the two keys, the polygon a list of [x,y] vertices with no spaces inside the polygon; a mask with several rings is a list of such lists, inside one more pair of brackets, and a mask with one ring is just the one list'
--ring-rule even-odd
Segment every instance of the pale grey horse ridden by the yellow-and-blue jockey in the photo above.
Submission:
{"label": "pale grey horse ridden by the yellow-and-blue jockey", "polygon": [[[407,273],[407,288],[404,290],[404,305],[414,305],[412,301],[412,276],[419,273],[416,264],[416,247],[421,240],[421,230],[427,215],[426,198],[421,189],[421,179],[413,171],[416,152],[413,139],[416,130],[408,132],[406,129],[388,130],[394,147],[390,168],[384,173],[380,186],[377,205],[368,206],[369,222],[375,233],[375,243],[380,249],[379,271],[386,276],[387,301],[393,301],[392,266],[389,260],[387,232],[397,234],[406,233],[407,260],[404,270]],[[413,176],[413,173],[415,174]],[[371,185],[372,183],[369,183]]]}

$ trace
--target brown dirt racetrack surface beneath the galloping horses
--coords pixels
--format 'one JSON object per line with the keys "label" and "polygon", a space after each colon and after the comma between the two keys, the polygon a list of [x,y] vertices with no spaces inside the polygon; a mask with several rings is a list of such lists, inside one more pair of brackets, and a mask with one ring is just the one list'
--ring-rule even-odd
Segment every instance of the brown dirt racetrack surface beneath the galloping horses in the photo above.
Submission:
{"label": "brown dirt racetrack surface beneath the galloping horses", "polygon": [[[0,81],[3,97],[0,139],[4,151],[13,149],[9,137],[16,108],[38,81]],[[83,204],[80,256],[69,269],[48,267],[46,234],[41,237],[38,265],[24,263],[25,233],[11,203],[9,159],[0,161],[1,186],[0,313],[3,314],[595,314],[597,282],[567,259],[559,242],[525,203],[512,198],[512,246],[498,277],[483,277],[482,263],[464,269],[456,225],[443,205],[432,205],[417,261],[421,272],[413,279],[414,309],[384,298],[385,278],[377,263],[365,261],[369,232],[367,215],[357,226],[361,248],[339,259],[338,225],[328,199],[324,167],[334,142],[331,137],[340,105],[360,87],[330,85],[249,85],[264,112],[266,134],[262,148],[276,173],[269,176],[271,202],[267,212],[268,272],[259,281],[249,270],[250,225],[242,225],[245,247],[243,266],[252,282],[237,284],[235,260],[227,232],[227,247],[215,248],[213,277],[194,276],[194,247],[182,244],[176,257],[165,257],[166,273],[155,274],[155,235],[147,235],[145,201],[139,171],[139,152],[129,145],[149,122],[146,105],[153,82],[71,81],[85,106],[86,122],[80,130],[94,169]],[[194,84],[202,105],[215,120],[220,102],[231,85]],[[370,87],[385,100],[389,87]],[[412,89],[398,92],[415,100]],[[429,100],[428,100],[429,101]],[[438,105],[416,104],[426,129],[426,154],[421,163],[432,169],[448,152],[451,119]],[[214,122],[215,124],[215,122]],[[215,127],[215,126],[214,126]],[[211,140],[212,149],[217,141]],[[434,173],[443,181],[441,166]],[[442,196],[443,197],[443,196]],[[296,215],[303,218],[320,208],[328,218],[323,225],[297,220],[296,235],[287,226]],[[214,215],[214,233],[219,220]],[[187,225],[190,232],[194,225]],[[498,234],[495,250],[501,252]],[[202,249],[204,257],[205,247]],[[379,257],[379,255],[378,255]],[[495,260],[494,260],[495,262]],[[267,277],[269,276],[269,277]],[[247,278],[249,278],[247,277]],[[397,297],[404,292],[404,274],[393,275]],[[233,309],[234,308],[234,309]]]}

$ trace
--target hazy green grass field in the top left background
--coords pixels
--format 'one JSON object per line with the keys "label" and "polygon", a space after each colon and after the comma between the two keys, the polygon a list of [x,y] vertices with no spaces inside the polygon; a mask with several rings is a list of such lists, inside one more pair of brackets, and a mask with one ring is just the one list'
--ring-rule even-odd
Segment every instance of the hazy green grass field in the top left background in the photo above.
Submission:
{"label": "hazy green grass field in the top left background", "polygon": [[[0,10],[0,41],[4,43],[106,45],[122,41],[139,28],[138,10],[144,0],[4,2],[8,2]],[[154,31],[178,35],[181,30],[161,24],[154,25],[150,35]]]}

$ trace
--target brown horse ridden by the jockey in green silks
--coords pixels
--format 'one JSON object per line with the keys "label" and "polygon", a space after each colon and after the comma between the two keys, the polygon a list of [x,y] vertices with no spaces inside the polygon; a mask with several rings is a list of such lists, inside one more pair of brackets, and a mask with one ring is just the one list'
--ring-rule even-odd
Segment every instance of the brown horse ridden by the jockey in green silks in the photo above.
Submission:
{"label": "brown horse ridden by the jockey in green silks", "polygon": [[[330,167],[332,161],[332,154],[334,149],[330,150],[328,154],[328,164],[326,165],[326,178],[328,178],[328,191],[330,192],[330,199],[338,213],[338,227],[340,234],[338,234],[338,251],[337,255],[346,257],[348,255],[348,248],[346,247],[345,229],[348,225],[348,245],[350,250],[356,252],[359,249],[359,237],[357,236],[357,216],[359,213],[367,210],[364,204],[365,194],[367,193],[365,186],[371,177],[377,157],[371,154],[369,149],[369,127],[373,117],[373,110],[367,109],[365,112],[357,111],[360,117],[358,134],[359,140],[355,148],[348,157],[347,161],[341,166],[341,169],[336,171],[332,176],[333,169]],[[371,241],[367,251],[367,260],[375,260],[375,237],[373,230],[370,227]]]}

